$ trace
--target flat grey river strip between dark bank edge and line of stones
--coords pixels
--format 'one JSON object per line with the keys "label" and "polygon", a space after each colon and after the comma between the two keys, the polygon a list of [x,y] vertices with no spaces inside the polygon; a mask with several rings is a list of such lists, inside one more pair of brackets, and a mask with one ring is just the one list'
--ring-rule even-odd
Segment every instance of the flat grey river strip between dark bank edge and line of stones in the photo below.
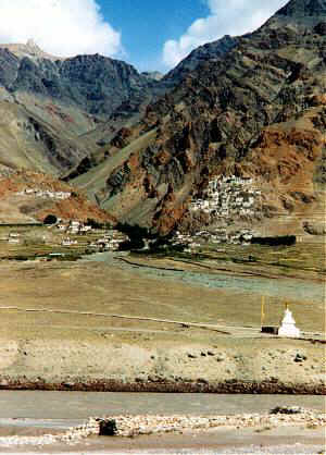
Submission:
{"label": "flat grey river strip between dark bank edge and line of stones", "polygon": [[121,414],[236,415],[298,405],[325,413],[321,395],[0,391],[3,419],[83,420]]}

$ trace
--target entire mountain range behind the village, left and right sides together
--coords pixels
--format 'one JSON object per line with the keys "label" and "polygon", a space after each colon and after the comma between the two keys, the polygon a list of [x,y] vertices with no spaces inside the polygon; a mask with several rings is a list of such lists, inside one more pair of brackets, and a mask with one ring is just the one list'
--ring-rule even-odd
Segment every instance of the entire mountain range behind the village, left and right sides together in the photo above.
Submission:
{"label": "entire mountain range behind the village, left and right sides together", "polygon": [[0,167],[60,176],[113,219],[160,234],[218,221],[189,205],[222,175],[250,177],[261,194],[247,221],[321,211],[325,24],[325,0],[291,0],[163,78],[98,54],[0,46]]}

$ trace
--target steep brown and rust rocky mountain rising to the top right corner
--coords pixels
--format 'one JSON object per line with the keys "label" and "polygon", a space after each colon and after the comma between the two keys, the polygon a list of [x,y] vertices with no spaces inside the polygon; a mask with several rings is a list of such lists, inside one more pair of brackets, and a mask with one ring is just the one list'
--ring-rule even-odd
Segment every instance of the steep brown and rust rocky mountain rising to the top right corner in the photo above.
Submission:
{"label": "steep brown and rust rocky mountain rising to the top right corner", "polygon": [[221,174],[253,177],[264,216],[304,211],[325,183],[325,20],[324,0],[291,0],[147,107],[120,149],[115,137],[114,157],[76,184],[161,234]]}

